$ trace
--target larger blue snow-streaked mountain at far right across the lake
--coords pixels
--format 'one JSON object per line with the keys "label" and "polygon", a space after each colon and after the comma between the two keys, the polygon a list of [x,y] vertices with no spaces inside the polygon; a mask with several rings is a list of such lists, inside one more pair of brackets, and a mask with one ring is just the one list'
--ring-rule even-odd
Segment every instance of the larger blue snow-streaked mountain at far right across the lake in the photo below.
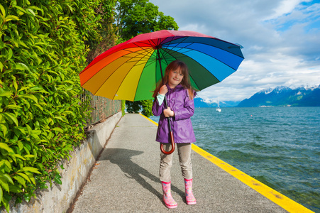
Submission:
{"label": "larger blue snow-streaked mountain at far right across the lake", "polygon": [[237,107],[320,107],[320,85],[263,89],[244,99]]}

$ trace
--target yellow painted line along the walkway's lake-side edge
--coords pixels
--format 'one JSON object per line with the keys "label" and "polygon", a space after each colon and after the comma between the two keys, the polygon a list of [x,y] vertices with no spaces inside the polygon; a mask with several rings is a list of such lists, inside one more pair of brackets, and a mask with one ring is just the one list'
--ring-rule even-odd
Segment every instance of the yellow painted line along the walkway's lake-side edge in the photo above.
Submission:
{"label": "yellow painted line along the walkway's lake-side edge", "polygon": [[[153,124],[158,126],[158,124],[155,121],[149,119],[146,116],[144,117],[149,121],[153,122]],[[214,163],[219,168],[225,170],[234,178],[241,180],[241,182],[245,183],[245,185],[248,185],[249,187],[253,188],[253,190],[267,197],[272,202],[275,202],[276,204],[280,205],[280,207],[286,209],[288,212],[297,212],[297,213],[312,212],[310,209],[307,209],[306,207],[302,206],[302,204],[299,204],[294,200],[291,200],[289,197],[286,197],[285,195],[280,194],[276,190],[272,190],[272,188],[268,187],[267,185],[263,184],[258,180],[255,180],[255,178],[252,178],[249,175],[241,172],[241,170],[234,168],[232,165],[229,165],[223,160],[216,158],[214,155],[211,155],[210,153],[204,151],[202,148],[199,148],[198,146],[192,144],[192,150],[198,153],[199,155],[202,155],[202,157],[211,161],[211,163]]]}

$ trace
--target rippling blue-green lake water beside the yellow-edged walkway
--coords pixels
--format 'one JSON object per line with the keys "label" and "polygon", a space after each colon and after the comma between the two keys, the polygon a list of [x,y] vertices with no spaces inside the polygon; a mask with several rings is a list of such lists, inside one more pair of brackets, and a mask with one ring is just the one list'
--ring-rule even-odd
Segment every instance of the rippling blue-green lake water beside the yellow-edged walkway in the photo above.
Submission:
{"label": "rippling blue-green lake water beside the yellow-edged walkway", "polygon": [[195,145],[320,212],[320,107],[196,108],[192,125]]}

